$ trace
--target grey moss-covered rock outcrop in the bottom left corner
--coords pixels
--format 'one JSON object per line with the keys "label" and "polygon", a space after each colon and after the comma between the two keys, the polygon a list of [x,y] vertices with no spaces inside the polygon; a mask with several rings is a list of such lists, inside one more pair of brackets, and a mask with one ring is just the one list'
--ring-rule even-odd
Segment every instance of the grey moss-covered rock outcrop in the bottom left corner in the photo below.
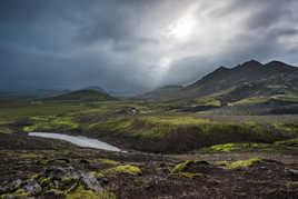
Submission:
{"label": "grey moss-covered rock outcrop in the bottom left corner", "polygon": [[2,198],[62,197],[78,187],[91,192],[103,191],[100,182],[91,172],[76,171],[72,167],[49,167],[31,179],[13,180],[0,188]]}

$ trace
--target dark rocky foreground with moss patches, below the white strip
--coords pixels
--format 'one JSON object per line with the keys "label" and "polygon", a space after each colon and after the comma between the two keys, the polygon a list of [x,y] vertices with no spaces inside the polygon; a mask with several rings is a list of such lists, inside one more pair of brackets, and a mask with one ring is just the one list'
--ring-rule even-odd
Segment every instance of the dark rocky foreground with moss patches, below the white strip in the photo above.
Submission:
{"label": "dark rocky foreground with moss patches, below the white strip", "polygon": [[295,146],[162,156],[23,133],[0,141],[0,198],[298,198]]}

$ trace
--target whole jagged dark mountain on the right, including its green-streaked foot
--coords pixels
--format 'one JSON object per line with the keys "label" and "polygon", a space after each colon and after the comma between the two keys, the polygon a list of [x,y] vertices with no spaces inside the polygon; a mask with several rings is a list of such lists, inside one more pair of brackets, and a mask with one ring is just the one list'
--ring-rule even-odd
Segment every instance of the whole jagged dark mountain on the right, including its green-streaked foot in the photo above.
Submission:
{"label": "whole jagged dark mountain on the right, including its green-streaked foot", "polygon": [[270,111],[290,106],[298,113],[298,68],[280,61],[262,64],[256,60],[234,68],[219,67],[178,91],[159,92],[159,99],[195,111],[213,107],[254,109],[261,105]]}

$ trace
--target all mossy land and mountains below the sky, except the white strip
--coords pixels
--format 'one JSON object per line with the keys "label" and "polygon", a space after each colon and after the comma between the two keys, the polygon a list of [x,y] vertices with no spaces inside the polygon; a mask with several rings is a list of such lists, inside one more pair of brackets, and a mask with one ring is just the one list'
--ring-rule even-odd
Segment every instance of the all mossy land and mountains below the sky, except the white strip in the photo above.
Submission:
{"label": "all mossy land and mountains below the sky, except the white strip", "polygon": [[[1,102],[0,196],[296,198],[297,77],[285,63],[250,61],[132,99],[86,89]],[[32,131],[97,138],[128,152]]]}

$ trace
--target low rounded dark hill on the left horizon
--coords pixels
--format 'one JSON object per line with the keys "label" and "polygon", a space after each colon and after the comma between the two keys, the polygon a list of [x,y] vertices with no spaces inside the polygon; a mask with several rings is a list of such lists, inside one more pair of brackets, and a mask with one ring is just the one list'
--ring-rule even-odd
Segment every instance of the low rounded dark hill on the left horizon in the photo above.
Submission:
{"label": "low rounded dark hill on the left horizon", "polygon": [[109,96],[106,92],[100,92],[97,90],[78,90],[69,93],[64,93],[61,96],[57,96],[53,98],[48,98],[47,100],[59,100],[59,101],[106,101],[106,100],[115,100],[116,98]]}

